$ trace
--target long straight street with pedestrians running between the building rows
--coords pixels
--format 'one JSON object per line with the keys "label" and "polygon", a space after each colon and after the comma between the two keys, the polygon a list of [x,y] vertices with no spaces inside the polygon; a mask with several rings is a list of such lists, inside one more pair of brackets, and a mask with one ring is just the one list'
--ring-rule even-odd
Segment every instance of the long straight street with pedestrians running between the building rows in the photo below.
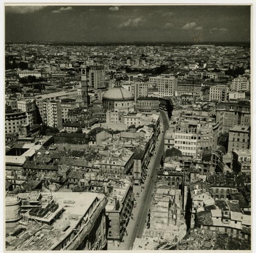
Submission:
{"label": "long straight street with pedestrians running between the building rows", "polygon": [[[164,124],[164,122],[166,124]],[[143,235],[143,230],[147,227],[148,210],[151,202],[154,184],[157,178],[156,168],[160,168],[160,159],[163,155],[164,135],[167,127],[166,115],[160,111],[160,134],[153,150],[153,156],[148,164],[148,175],[144,184],[134,185],[134,203],[136,207],[132,210],[133,219],[129,220],[126,227],[127,236],[123,237],[123,242],[119,247],[108,245],[108,250],[132,250],[135,238]],[[163,132],[162,132],[163,131]],[[144,189],[142,189],[144,187]],[[137,195],[139,193],[139,196]]]}

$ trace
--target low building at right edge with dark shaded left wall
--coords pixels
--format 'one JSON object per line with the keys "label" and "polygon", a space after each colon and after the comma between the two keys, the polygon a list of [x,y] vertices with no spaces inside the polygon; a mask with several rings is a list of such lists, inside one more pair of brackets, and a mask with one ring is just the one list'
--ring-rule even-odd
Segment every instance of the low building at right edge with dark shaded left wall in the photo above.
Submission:
{"label": "low building at right edge with dark shaded left wall", "polygon": [[232,151],[231,169],[236,172],[251,173],[250,150]]}

